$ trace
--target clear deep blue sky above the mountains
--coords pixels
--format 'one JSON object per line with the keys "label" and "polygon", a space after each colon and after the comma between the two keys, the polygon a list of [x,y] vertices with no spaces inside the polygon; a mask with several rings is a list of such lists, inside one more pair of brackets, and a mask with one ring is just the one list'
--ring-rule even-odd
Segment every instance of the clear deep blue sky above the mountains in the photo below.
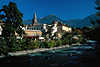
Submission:
{"label": "clear deep blue sky above the mountains", "polygon": [[83,19],[95,13],[95,0],[0,0],[0,9],[10,1],[17,4],[23,20],[32,19],[34,12],[38,19],[53,14],[63,20]]}

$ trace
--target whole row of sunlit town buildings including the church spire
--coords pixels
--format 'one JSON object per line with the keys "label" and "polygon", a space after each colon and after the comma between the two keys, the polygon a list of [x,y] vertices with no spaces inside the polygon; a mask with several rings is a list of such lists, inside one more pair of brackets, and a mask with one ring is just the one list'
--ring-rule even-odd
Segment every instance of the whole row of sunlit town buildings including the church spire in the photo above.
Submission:
{"label": "whole row of sunlit town buildings including the church spire", "polygon": [[[60,21],[53,21],[52,24],[39,24],[36,13],[34,13],[34,17],[32,19],[32,24],[25,25],[22,28],[25,31],[24,38],[34,38],[34,39],[45,39],[42,35],[50,35],[52,37],[57,34],[56,37],[61,38],[60,32],[72,32],[72,28],[62,24]],[[0,35],[2,35],[2,27],[0,24]],[[17,33],[16,33],[17,36]]]}

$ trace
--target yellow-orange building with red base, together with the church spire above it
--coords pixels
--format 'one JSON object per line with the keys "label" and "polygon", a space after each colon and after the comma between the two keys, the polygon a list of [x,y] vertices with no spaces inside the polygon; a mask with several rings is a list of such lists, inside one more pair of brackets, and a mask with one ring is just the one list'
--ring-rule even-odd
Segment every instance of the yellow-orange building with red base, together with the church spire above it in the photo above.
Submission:
{"label": "yellow-orange building with red base, together with the church spire above it", "polygon": [[39,39],[42,36],[43,25],[39,24],[37,21],[36,13],[34,13],[34,17],[32,19],[32,24],[26,25],[24,38],[34,38]]}

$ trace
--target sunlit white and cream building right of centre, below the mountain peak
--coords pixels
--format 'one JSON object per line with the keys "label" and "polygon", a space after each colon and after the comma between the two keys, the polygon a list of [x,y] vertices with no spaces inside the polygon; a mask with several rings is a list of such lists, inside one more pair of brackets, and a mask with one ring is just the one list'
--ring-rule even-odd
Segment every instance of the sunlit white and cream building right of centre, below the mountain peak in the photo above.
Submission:
{"label": "sunlit white and cream building right of centre, below the mountain peak", "polygon": [[72,32],[71,27],[69,27],[66,24],[63,24],[60,21],[53,21],[50,27],[51,27],[50,35],[53,37],[53,39],[62,38],[62,34],[64,32],[68,32],[68,33]]}

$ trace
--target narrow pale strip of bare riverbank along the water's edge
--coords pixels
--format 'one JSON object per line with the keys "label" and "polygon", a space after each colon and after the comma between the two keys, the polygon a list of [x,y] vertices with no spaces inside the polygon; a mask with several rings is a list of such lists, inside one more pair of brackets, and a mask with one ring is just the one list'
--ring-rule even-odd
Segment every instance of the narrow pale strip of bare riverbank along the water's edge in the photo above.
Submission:
{"label": "narrow pale strip of bare riverbank along the water's edge", "polygon": [[[72,45],[81,45],[81,44],[72,44]],[[27,55],[31,53],[36,53],[36,52],[42,52],[42,51],[49,51],[49,50],[57,50],[57,49],[62,49],[62,48],[69,48],[69,45],[63,45],[63,46],[58,46],[58,47],[53,47],[53,48],[38,48],[38,49],[33,49],[33,50],[24,50],[24,51],[16,51],[16,52],[9,52],[9,56],[20,56],[20,55]],[[6,56],[0,56],[0,58],[3,58]]]}

